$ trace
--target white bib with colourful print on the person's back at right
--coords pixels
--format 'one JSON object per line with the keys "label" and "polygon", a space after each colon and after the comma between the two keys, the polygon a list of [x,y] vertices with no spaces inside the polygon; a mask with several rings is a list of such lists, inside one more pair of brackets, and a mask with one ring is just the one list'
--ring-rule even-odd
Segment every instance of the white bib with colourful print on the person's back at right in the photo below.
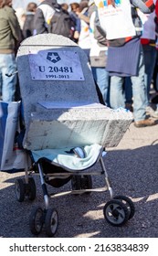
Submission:
{"label": "white bib with colourful print on the person's back at right", "polygon": [[129,0],[115,1],[115,7],[108,0],[95,0],[98,7],[100,26],[108,40],[135,36],[132,22],[132,7]]}

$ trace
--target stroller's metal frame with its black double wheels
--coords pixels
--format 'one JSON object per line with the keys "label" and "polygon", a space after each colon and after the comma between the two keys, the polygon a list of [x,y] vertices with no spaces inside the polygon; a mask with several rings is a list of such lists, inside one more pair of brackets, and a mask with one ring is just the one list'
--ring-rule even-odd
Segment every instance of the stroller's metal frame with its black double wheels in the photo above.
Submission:
{"label": "stroller's metal frame with its black double wheels", "polygon": [[[28,153],[26,152],[26,155]],[[48,173],[45,174],[42,166],[42,158],[37,161],[37,163],[33,163],[31,168],[28,170],[26,167],[25,170],[25,181],[22,179],[16,180],[16,199],[19,202],[28,198],[30,200],[34,200],[36,198],[36,184],[31,177],[32,173],[35,172],[38,176],[40,176],[40,183],[43,191],[43,198],[45,207],[42,209],[41,207],[33,208],[30,217],[29,217],[29,227],[31,232],[34,235],[37,235],[41,232],[43,225],[45,224],[46,233],[48,237],[53,237],[56,234],[58,229],[58,211],[56,208],[49,207],[49,199],[54,197],[61,197],[67,196],[70,194],[84,194],[90,192],[110,192],[111,200],[108,201],[104,208],[103,214],[104,218],[112,225],[116,227],[120,227],[124,225],[129,219],[132,219],[135,208],[132,203],[132,200],[129,197],[125,196],[116,196],[113,195],[113,189],[111,187],[111,181],[109,179],[106,167],[104,165],[103,156],[100,156],[98,160],[100,162],[101,170],[96,171],[75,171],[75,172],[55,172],[55,173]],[[37,170],[35,171],[35,166]],[[64,179],[65,177],[70,176],[75,178],[83,177],[91,177],[91,176],[104,176],[105,186],[104,187],[97,187],[92,188],[92,184],[90,183],[89,179],[86,179],[87,184],[83,184],[83,187],[80,184],[80,187],[74,187],[71,190],[58,192],[58,193],[48,193],[47,192],[47,181],[52,179]],[[69,179],[70,180],[70,179]],[[81,181],[81,179],[80,179]],[[72,182],[72,181],[71,181]],[[68,183],[68,182],[67,182]],[[82,181],[81,181],[82,183]],[[86,187],[86,188],[85,188]]]}

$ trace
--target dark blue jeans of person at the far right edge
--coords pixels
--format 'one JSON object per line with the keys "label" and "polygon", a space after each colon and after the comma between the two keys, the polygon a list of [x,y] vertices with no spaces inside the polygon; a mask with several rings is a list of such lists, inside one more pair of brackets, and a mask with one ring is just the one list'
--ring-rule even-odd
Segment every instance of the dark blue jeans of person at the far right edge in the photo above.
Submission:
{"label": "dark blue jeans of person at the far right edge", "polygon": [[142,45],[142,49],[144,54],[144,65],[145,65],[144,81],[145,81],[145,87],[147,90],[146,104],[149,105],[150,89],[151,89],[151,82],[153,79],[153,70],[156,63],[157,49],[154,46],[150,46],[150,45]]}

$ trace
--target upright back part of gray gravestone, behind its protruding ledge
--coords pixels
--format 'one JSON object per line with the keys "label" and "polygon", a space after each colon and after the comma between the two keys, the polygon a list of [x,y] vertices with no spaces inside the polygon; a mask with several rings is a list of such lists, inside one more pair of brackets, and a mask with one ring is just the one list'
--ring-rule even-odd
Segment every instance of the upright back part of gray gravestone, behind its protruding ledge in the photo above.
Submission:
{"label": "upright back part of gray gravestone, behind its protruding ledge", "polygon": [[[71,56],[69,59],[67,56],[66,64],[62,59],[56,63],[50,60],[50,54],[61,53],[63,57],[63,54],[67,52],[71,52]],[[76,63],[75,55],[78,55],[79,63]],[[24,110],[26,109],[24,112],[26,123],[30,118],[30,112],[35,110],[38,101],[83,102],[83,104],[99,102],[86,54],[77,44],[66,37],[53,34],[28,37],[18,49],[16,62]],[[74,69],[75,65],[77,65],[76,69]],[[42,72],[46,66],[47,71]],[[68,72],[62,72],[64,68],[66,70],[68,68]],[[57,76],[57,74],[68,75],[71,71],[69,68],[74,69],[74,80],[65,80],[65,78],[52,80],[51,77],[48,80],[46,77]],[[84,80],[76,80],[80,75],[78,68],[81,68]],[[57,69],[61,69],[61,71],[57,72]],[[31,76],[33,70],[34,74],[45,75],[45,80],[34,80]]]}

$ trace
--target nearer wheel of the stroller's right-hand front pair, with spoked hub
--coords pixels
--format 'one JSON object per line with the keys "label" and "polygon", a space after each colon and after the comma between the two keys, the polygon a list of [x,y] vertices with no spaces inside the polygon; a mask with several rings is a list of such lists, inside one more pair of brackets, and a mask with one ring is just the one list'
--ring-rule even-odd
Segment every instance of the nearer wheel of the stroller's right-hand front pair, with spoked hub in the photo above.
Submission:
{"label": "nearer wheel of the stroller's right-hand front pair, with spoked hub", "polygon": [[120,200],[112,199],[103,209],[105,219],[112,225],[120,227],[129,219],[129,210]]}

